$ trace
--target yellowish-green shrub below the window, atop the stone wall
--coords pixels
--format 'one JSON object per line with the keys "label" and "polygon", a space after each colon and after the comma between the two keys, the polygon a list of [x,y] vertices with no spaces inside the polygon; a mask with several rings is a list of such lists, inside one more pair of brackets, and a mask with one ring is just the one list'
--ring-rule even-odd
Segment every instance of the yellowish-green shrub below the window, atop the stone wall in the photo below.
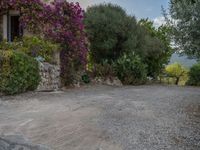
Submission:
{"label": "yellowish-green shrub below the window, atop the stone wall", "polygon": [[56,63],[54,56],[59,46],[43,38],[31,36],[16,39],[12,43],[6,41],[1,42],[0,50],[6,49],[21,51],[31,57],[41,57],[46,62]]}

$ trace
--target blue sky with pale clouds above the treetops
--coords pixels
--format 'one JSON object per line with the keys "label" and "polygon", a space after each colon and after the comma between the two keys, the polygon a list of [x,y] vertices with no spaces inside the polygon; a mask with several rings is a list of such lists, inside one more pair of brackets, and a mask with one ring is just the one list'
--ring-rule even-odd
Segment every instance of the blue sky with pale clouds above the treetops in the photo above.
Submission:
{"label": "blue sky with pale clouds above the treetops", "polygon": [[164,22],[161,6],[168,8],[169,0],[69,0],[79,2],[86,9],[99,3],[108,3],[120,5],[130,15],[134,15],[137,19],[149,18],[154,21],[155,26],[159,26]]}

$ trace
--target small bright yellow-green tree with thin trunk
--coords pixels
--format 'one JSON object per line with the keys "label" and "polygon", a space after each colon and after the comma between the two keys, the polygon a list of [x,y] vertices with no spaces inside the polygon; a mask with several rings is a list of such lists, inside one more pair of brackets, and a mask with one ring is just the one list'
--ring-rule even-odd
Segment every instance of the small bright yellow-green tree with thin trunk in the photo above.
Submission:
{"label": "small bright yellow-green tree with thin trunk", "polygon": [[169,77],[176,79],[176,85],[179,84],[180,78],[186,76],[188,73],[188,70],[179,63],[168,65],[165,71]]}

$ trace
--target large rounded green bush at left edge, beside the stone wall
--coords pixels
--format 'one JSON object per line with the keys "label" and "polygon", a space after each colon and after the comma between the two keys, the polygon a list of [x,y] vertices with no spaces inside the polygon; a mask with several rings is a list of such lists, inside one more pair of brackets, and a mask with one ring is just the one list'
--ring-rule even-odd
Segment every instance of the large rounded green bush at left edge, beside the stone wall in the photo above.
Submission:
{"label": "large rounded green bush at left edge, beside the stone wall", "polygon": [[38,62],[28,55],[0,50],[0,92],[13,95],[35,90],[40,82]]}

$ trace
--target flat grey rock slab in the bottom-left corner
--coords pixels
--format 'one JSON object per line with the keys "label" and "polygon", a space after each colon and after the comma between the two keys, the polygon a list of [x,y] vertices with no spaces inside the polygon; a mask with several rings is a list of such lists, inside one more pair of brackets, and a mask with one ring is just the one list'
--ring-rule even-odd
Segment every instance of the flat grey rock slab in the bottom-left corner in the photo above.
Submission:
{"label": "flat grey rock slab in the bottom-left corner", "polygon": [[0,136],[0,150],[50,150],[43,145],[33,145],[21,135]]}

